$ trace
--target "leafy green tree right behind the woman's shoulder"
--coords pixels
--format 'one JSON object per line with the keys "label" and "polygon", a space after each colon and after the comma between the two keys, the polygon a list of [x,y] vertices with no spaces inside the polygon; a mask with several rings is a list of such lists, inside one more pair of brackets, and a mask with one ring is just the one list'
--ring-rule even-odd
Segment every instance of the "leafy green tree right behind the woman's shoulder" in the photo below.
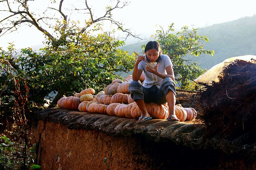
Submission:
{"label": "leafy green tree right behind the woman's shoulder", "polygon": [[194,85],[192,81],[204,73],[205,70],[198,66],[198,63],[186,60],[187,54],[195,57],[202,54],[213,55],[214,51],[204,50],[203,46],[209,39],[206,36],[198,35],[197,29],[190,30],[187,26],[181,28],[174,34],[174,23],[168,26],[167,31],[161,29],[156,31],[153,37],[158,40],[161,50],[168,55],[173,62],[175,80],[182,89],[192,90]]}

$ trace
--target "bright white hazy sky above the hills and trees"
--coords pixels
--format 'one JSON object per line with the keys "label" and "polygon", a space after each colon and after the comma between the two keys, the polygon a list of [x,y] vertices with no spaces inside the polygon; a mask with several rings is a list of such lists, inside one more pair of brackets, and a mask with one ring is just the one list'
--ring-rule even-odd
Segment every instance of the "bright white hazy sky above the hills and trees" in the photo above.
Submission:
{"label": "bright white hazy sky above the hills and trees", "polygon": [[[40,0],[41,2],[47,0]],[[65,0],[64,2],[72,2]],[[113,1],[114,2],[114,1]],[[255,0],[130,0],[129,5],[114,11],[116,20],[122,21],[125,28],[147,38],[158,29],[156,25],[168,26],[175,23],[175,29],[182,26],[194,28],[210,26],[256,14]],[[94,15],[101,16],[106,0],[88,0],[94,8]],[[46,5],[37,4],[38,6]],[[97,8],[95,8],[97,6]],[[44,36],[35,28],[23,27],[0,37],[0,47],[14,42],[16,49],[42,44]],[[128,42],[129,43],[129,42]]]}

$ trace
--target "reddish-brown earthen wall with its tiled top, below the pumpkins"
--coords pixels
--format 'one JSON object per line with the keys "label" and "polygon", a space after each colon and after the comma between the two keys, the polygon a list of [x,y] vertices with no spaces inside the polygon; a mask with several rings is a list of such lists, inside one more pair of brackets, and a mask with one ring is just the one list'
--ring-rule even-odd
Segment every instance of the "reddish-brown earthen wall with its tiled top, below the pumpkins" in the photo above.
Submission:
{"label": "reddish-brown earthen wall with its tiled top, below the pumpkins", "polygon": [[41,169],[256,169],[256,147],[203,140],[204,128],[192,123],[136,125],[135,119],[61,108],[38,112],[36,119],[30,136]]}

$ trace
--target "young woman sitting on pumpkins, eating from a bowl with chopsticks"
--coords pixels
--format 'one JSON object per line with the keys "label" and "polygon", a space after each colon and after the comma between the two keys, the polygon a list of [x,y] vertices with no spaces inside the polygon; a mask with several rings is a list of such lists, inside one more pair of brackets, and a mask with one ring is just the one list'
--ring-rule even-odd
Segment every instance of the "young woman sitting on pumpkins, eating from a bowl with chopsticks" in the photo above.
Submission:
{"label": "young woman sitting on pumpkins, eating from a bowl with chopsticks", "polygon": [[[152,119],[149,115],[145,103],[154,102],[156,104],[168,103],[168,120],[179,121],[175,115],[175,83],[172,62],[167,55],[161,54],[160,44],[157,41],[149,41],[144,50],[145,56],[137,56],[134,70],[133,81],[129,85],[131,97],[140,108],[142,114],[137,124]],[[157,62],[155,68],[146,65],[146,62]],[[138,80],[144,71],[145,80],[141,85]]]}

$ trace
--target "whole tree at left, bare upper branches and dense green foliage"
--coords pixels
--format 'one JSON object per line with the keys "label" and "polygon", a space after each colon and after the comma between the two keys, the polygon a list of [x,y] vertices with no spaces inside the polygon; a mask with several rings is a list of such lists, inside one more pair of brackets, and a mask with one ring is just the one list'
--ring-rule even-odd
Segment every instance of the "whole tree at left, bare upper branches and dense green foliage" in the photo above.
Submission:
{"label": "whole tree at left, bare upper branches and dense green foliage", "polygon": [[[58,92],[52,102],[55,105],[64,94],[70,96],[73,92],[84,89],[86,85],[100,91],[112,79],[118,77],[117,72],[128,72],[133,68],[135,58],[119,49],[124,45],[124,41],[114,37],[115,30],[104,31],[100,23],[100,21],[110,21],[126,32],[127,36],[132,35],[120,22],[114,20],[111,14],[114,9],[126,6],[127,2],[116,1],[114,7],[106,7],[102,17],[94,19],[92,8],[85,0],[83,4],[85,8],[73,9],[88,12],[89,18],[85,20],[85,24],[67,20],[62,8],[64,0],[59,2],[58,8],[54,8],[56,2],[51,1],[52,6],[42,14],[30,11],[31,3],[36,1],[12,2],[16,5],[16,10],[12,9],[15,6],[9,0],[0,1],[8,8],[2,11],[11,13],[0,21],[2,26],[6,26],[3,27],[4,33],[28,23],[45,33],[45,43],[48,45],[41,49],[41,52],[22,49],[21,55],[18,56],[12,52],[13,45],[9,51],[2,50],[1,60],[7,60],[11,64],[15,75],[26,78],[31,106],[45,103],[44,99],[50,92]],[[54,14],[53,11],[56,13]],[[56,17],[49,17],[50,14]],[[69,15],[71,17],[71,14]],[[54,22],[50,22],[51,20]],[[1,75],[4,77],[1,83],[5,84],[5,91],[9,91],[5,98],[11,99],[10,95],[13,94],[14,89],[10,84],[10,77],[6,76],[5,70],[2,70]]]}

